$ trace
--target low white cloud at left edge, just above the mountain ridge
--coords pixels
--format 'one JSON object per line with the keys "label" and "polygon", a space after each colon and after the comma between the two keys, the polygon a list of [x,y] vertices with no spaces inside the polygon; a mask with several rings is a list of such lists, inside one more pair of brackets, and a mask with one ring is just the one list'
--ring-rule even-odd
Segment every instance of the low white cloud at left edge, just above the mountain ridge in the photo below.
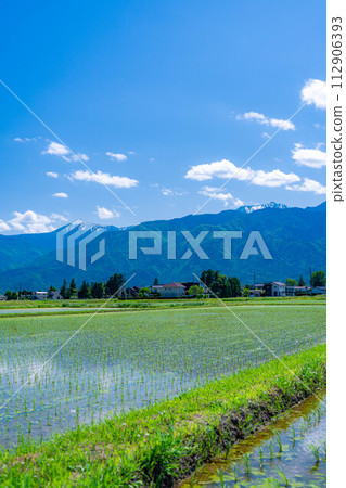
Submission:
{"label": "low white cloud at left edge, just above the mountain ridge", "polygon": [[67,219],[60,214],[46,216],[33,210],[24,213],[14,211],[13,218],[4,222],[0,220],[0,231],[4,234],[34,234],[51,232],[57,229]]}

